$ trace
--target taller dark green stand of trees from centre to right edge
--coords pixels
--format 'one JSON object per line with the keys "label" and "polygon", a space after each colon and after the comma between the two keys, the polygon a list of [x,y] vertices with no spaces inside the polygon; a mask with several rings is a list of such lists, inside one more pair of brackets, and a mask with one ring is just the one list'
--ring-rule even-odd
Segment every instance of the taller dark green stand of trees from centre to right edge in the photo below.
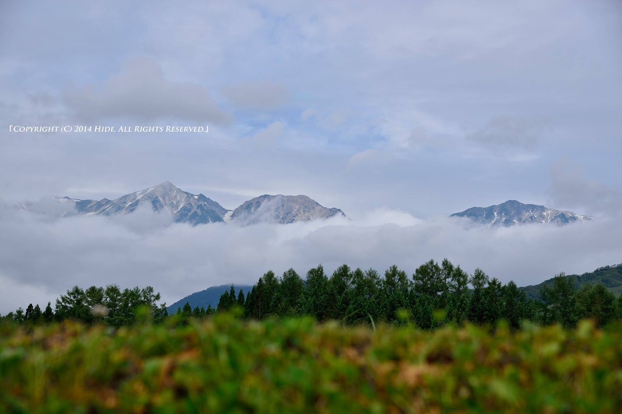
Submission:
{"label": "taller dark green stand of trees from centre to right edge", "polygon": [[[414,323],[430,329],[447,323],[494,325],[506,320],[516,330],[522,320],[543,325],[559,322],[573,328],[582,318],[593,318],[605,326],[622,318],[622,296],[603,284],[577,289],[572,277],[554,277],[552,287],[541,289],[542,300],[528,299],[511,281],[502,284],[481,269],[467,274],[448,259],[430,260],[411,277],[391,266],[381,277],[374,269],[352,270],[344,264],[329,277],[322,266],[310,269],[302,279],[294,269],[276,277],[268,271],[244,298],[234,286],[223,292],[216,311],[233,305],[253,319],[312,315],[318,321],[358,323]],[[189,305],[188,305],[189,308]]]}

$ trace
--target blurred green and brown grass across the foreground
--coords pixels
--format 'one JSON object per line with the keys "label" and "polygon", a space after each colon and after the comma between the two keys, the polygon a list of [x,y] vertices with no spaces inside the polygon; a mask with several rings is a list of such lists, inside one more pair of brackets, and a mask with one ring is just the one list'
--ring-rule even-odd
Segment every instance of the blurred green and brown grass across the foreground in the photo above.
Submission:
{"label": "blurred green and brown grass across the foreground", "polygon": [[620,412],[620,329],[489,331],[2,325],[0,412]]}

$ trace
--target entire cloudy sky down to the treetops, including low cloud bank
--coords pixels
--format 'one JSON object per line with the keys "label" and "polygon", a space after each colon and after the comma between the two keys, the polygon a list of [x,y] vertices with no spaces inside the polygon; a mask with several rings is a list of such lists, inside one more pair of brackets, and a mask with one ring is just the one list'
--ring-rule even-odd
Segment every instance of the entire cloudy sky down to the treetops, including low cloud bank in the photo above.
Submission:
{"label": "entire cloudy sky down to the treetops, including low cloud bank", "polygon": [[[150,284],[170,304],[318,263],[412,274],[447,257],[522,286],[622,262],[621,2],[307,3],[0,3],[0,313],[75,284]],[[305,194],[352,220],[189,228],[10,207],[164,181],[227,209]],[[508,199],[596,220],[447,219]]]}

